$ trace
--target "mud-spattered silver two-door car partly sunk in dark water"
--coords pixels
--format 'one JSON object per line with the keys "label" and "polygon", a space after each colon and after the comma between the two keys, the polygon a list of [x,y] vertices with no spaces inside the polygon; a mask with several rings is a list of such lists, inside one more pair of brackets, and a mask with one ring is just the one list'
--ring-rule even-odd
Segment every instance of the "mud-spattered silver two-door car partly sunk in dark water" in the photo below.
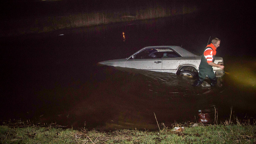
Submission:
{"label": "mud-spattered silver two-door car partly sunk in dark water", "polygon": [[[148,46],[126,59],[101,61],[99,64],[198,76],[201,57],[180,46]],[[214,63],[223,65],[223,58],[215,57]],[[216,76],[225,74],[222,69],[217,67],[213,67],[213,71]]]}

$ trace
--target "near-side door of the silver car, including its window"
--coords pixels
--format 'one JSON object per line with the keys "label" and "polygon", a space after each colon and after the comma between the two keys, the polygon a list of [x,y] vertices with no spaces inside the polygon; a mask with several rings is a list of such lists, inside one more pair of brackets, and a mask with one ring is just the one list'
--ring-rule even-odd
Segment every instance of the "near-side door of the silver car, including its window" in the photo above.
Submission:
{"label": "near-side door of the silver car, including its window", "polygon": [[144,51],[135,54],[133,58],[131,57],[126,60],[125,67],[161,72],[162,59],[156,56],[157,51],[154,50],[155,49],[145,49]]}

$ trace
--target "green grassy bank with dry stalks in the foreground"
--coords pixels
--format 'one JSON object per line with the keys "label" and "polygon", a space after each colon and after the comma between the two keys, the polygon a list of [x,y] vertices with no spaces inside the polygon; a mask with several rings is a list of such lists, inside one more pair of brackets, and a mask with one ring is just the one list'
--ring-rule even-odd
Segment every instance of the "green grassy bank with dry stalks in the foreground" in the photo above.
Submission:
{"label": "green grassy bank with dry stalks in the foreground", "polygon": [[0,126],[0,143],[255,143],[256,126],[198,125],[173,131],[117,130],[99,132],[51,127]]}

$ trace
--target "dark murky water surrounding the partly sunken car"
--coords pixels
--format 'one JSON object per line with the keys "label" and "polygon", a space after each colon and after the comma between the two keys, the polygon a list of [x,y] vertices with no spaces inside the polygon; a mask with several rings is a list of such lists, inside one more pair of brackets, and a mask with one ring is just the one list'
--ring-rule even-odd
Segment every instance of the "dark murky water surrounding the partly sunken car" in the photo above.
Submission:
{"label": "dark murky water surrounding the partly sunken car", "polygon": [[[158,129],[158,123],[208,123],[256,115],[256,61],[248,27],[202,14],[1,38],[1,120],[23,119],[100,130]],[[232,25],[231,25],[232,24]],[[235,26],[234,26],[235,25]],[[60,34],[64,34],[59,36]],[[194,79],[97,65],[126,58],[144,46],[182,45],[202,53],[209,36],[221,39],[217,56],[226,75],[218,86]],[[212,38],[211,37],[211,38]],[[207,80],[206,80],[207,81]],[[155,115],[156,114],[156,118]]]}

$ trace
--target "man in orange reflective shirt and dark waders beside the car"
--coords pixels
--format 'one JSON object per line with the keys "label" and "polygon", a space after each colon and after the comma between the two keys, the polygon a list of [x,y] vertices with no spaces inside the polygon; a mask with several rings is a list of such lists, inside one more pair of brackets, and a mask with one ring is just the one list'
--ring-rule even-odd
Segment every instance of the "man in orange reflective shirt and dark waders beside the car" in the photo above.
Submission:
{"label": "man in orange reflective shirt and dark waders beside the car", "polygon": [[224,69],[224,66],[217,65],[214,63],[214,58],[216,55],[216,49],[220,46],[220,39],[213,38],[212,43],[207,45],[204,49],[204,53],[201,58],[201,62],[199,65],[199,74],[198,79],[194,82],[193,86],[199,86],[203,83],[206,76],[209,77],[211,80],[211,86],[214,86],[217,84],[217,77],[215,76],[213,72],[212,67],[218,67],[222,70]]}

